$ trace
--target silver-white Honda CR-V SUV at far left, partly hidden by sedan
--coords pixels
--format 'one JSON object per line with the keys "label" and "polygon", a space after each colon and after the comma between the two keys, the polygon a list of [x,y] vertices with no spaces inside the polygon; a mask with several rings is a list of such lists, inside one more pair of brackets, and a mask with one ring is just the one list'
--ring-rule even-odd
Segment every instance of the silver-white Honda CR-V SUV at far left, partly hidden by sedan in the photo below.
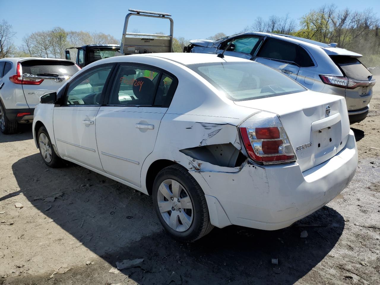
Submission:
{"label": "silver-white Honda CR-V SUV at far left, partly hidden by sedan", "polygon": [[12,134],[32,123],[35,106],[80,68],[71,60],[35,57],[0,59],[0,131]]}

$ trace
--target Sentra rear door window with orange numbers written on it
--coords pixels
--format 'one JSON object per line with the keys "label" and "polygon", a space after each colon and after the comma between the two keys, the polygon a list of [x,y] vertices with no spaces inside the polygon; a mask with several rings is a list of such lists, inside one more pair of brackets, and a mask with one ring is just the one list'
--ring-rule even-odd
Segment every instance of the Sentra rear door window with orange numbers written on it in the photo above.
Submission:
{"label": "Sentra rear door window with orange numbers written on it", "polygon": [[152,68],[122,65],[116,74],[109,105],[153,105],[161,74]]}

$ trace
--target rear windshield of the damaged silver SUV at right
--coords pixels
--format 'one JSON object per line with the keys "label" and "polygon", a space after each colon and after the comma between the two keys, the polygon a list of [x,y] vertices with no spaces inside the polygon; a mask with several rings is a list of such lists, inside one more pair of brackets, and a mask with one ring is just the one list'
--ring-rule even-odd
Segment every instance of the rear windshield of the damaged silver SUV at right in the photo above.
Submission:
{"label": "rear windshield of the damaged silver SUV at right", "polygon": [[368,76],[372,76],[358,59],[341,55],[332,56],[331,59],[340,67],[345,76],[357,80],[368,80]]}

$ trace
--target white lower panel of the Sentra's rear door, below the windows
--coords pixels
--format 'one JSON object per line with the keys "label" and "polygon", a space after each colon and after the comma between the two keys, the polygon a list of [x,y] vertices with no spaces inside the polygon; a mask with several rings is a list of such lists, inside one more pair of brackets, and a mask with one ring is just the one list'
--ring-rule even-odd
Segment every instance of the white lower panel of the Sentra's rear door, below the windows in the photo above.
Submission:
{"label": "white lower panel of the Sentra's rear door, below the windows", "polygon": [[153,151],[166,110],[133,106],[100,108],[96,138],[101,164],[106,173],[141,186],[141,166]]}

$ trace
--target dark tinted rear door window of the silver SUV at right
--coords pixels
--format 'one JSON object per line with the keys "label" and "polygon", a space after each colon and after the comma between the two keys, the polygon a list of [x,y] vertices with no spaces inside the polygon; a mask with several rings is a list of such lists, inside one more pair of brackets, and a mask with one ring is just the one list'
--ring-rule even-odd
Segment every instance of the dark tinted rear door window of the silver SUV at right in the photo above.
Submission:
{"label": "dark tinted rear door window of the silver SUV at right", "polygon": [[285,60],[289,62],[298,62],[297,60],[298,45],[287,41],[269,38],[265,41],[263,47],[258,52],[258,57],[267,59]]}

